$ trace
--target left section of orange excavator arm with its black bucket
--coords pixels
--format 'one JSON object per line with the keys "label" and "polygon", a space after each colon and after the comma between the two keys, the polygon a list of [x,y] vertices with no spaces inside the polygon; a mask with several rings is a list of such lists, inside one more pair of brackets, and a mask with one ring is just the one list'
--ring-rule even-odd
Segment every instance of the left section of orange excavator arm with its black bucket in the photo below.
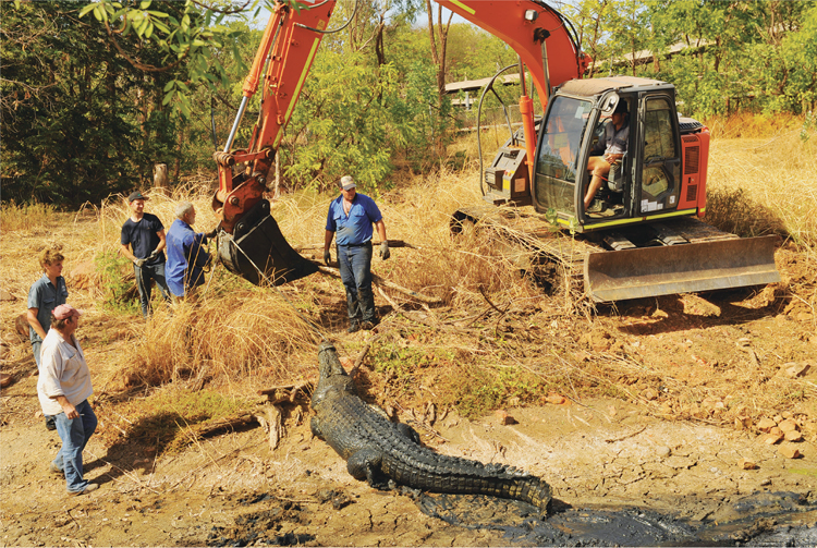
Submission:
{"label": "left section of orange excavator arm with its black bucket", "polygon": [[[264,199],[268,173],[286,123],[315,60],[336,0],[277,3],[264,32],[224,149],[214,154],[219,188],[212,208],[220,218],[219,257],[253,283],[276,285],[317,271],[286,242]],[[232,149],[249,98],[261,86],[260,115],[246,149]]]}

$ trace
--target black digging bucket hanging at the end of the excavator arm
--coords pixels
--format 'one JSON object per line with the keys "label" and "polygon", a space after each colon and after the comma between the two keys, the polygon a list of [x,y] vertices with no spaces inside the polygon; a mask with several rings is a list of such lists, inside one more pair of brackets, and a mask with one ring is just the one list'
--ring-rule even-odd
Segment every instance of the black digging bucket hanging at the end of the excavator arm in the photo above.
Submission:
{"label": "black digging bucket hanging at the end of the excavator arm", "polygon": [[315,263],[298,255],[283,238],[266,199],[242,217],[232,235],[221,233],[219,258],[228,270],[256,285],[280,285],[318,271]]}

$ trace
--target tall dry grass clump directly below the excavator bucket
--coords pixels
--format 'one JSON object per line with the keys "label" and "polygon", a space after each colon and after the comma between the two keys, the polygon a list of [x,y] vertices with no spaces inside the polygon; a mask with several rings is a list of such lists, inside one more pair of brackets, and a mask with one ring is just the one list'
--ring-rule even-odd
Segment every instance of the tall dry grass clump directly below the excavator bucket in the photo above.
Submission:
{"label": "tall dry grass clump directly below the excavator bucket", "polygon": [[240,379],[267,382],[297,377],[292,354],[314,349],[320,338],[271,290],[205,297],[158,309],[129,349],[127,385],[176,380]]}

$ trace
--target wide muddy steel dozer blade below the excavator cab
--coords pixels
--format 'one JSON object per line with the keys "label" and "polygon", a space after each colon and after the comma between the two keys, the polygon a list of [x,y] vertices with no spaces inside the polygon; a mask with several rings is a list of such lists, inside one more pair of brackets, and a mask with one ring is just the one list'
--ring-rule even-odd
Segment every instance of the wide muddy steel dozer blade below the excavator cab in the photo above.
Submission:
{"label": "wide muddy steel dozer blade below the excavator cab", "polygon": [[735,238],[590,253],[584,283],[596,302],[695,293],[780,281],[778,236]]}

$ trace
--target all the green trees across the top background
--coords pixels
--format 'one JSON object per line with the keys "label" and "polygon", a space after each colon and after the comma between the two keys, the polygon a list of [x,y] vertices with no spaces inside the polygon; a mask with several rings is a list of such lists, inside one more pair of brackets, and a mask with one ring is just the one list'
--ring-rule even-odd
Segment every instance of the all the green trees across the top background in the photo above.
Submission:
{"label": "all the green trees across the top background", "polygon": [[[212,180],[212,150],[223,146],[260,40],[248,24],[260,2],[3,2],[2,198],[98,202],[146,185],[156,162],[174,181]],[[498,38],[444,15],[432,21],[435,34],[417,27],[417,14],[431,13],[425,0],[352,5],[338,3],[330,26],[349,25],[325,36],[282,143],[289,186],[324,187],[354,172],[376,192],[398,166],[432,168],[455,123],[440,82],[487,77],[516,61]],[[562,9],[595,59],[585,77],[671,82],[681,110],[704,118],[817,107],[815,0],[581,0]],[[256,98],[245,125],[258,109]]]}

